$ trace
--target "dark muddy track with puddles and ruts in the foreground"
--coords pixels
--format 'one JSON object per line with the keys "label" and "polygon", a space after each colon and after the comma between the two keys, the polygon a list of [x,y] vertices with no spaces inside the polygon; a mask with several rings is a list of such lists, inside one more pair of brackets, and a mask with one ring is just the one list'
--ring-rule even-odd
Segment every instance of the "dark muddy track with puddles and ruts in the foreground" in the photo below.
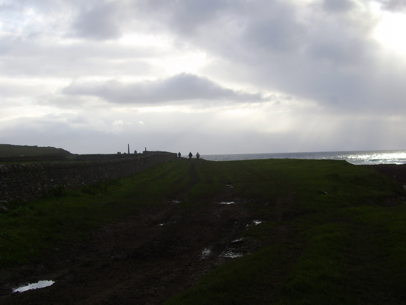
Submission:
{"label": "dark muddy track with puddles and ruts in the foreground", "polygon": [[[231,196],[231,194],[230,194]],[[0,270],[0,303],[160,304],[195,284],[212,268],[260,246],[235,240],[253,223],[246,203],[223,198],[187,211],[167,202],[106,225],[86,241],[54,249],[34,265]],[[52,286],[12,293],[24,283]]]}

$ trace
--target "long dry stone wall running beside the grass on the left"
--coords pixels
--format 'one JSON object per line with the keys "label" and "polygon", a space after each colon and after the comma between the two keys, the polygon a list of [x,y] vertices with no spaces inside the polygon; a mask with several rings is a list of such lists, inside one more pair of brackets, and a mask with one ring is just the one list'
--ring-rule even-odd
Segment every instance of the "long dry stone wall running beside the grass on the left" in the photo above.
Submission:
{"label": "long dry stone wall running beside the grass on the left", "polygon": [[134,155],[106,161],[0,164],[0,201],[36,199],[53,188],[81,188],[125,177],[175,159],[174,153]]}

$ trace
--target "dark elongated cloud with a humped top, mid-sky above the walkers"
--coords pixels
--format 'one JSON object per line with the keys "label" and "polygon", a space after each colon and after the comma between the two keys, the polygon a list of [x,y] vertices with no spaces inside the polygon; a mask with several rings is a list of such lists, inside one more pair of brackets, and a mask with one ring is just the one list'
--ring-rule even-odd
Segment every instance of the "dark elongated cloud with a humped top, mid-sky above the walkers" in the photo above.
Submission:
{"label": "dark elongated cloud with a humped top, mid-sky above the walkers", "polygon": [[117,80],[72,83],[62,90],[65,95],[86,95],[110,103],[164,103],[185,100],[263,101],[260,94],[247,94],[224,88],[206,77],[181,73],[173,77],[136,83]]}

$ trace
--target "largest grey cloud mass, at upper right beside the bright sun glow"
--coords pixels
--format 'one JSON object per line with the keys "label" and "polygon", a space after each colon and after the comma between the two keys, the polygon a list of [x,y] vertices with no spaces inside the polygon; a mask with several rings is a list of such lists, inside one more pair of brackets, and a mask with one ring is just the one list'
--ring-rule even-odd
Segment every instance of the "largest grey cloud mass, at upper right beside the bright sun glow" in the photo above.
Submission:
{"label": "largest grey cloud mass, at upper right beside the bright sun glow", "polygon": [[[181,16],[177,6],[171,8],[167,14]],[[301,10],[282,1],[223,2],[216,8],[221,18],[197,18],[193,26],[200,31],[193,33],[180,29],[189,26],[187,18],[176,24],[164,20],[170,20],[167,26],[180,38],[229,62],[213,68],[227,77],[315,99],[334,111],[398,107],[406,95],[404,86],[392,85],[396,100],[386,105],[377,100],[387,90],[377,74],[389,68],[382,65],[387,59],[379,45],[368,38],[376,21],[349,0],[313,3]],[[403,77],[401,70],[388,76],[391,80],[385,82],[391,83]]]}

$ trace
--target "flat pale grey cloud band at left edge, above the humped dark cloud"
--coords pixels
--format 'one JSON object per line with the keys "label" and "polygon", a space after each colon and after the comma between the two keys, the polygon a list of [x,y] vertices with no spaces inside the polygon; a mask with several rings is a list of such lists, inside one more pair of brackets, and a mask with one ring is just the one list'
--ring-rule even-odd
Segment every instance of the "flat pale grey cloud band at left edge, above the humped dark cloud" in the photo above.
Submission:
{"label": "flat pale grey cloud band at left edge, above the humped dark cloud", "polygon": [[0,75],[73,77],[115,74],[133,75],[149,72],[144,60],[164,56],[164,51],[153,47],[114,44],[99,45],[95,41],[46,45],[36,40],[0,38]]}

